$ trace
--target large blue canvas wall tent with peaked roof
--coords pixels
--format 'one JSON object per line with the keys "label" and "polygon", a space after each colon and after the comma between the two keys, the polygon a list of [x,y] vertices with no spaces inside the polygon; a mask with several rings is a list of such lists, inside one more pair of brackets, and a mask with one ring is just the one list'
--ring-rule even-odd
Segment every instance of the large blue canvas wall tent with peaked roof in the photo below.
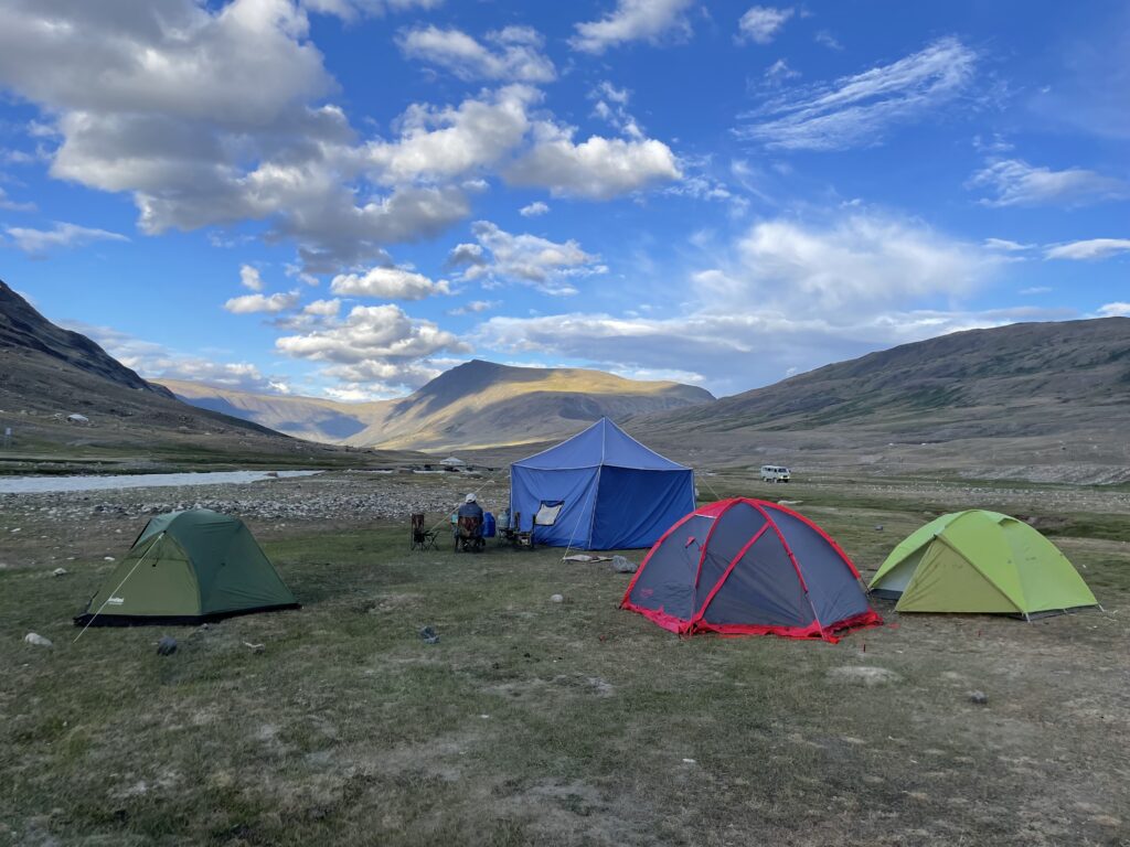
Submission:
{"label": "large blue canvas wall tent with peaked roof", "polygon": [[695,508],[694,471],[647,449],[608,418],[542,453],[515,462],[510,504],[529,529],[541,506],[562,504],[534,541],[617,550],[650,547]]}

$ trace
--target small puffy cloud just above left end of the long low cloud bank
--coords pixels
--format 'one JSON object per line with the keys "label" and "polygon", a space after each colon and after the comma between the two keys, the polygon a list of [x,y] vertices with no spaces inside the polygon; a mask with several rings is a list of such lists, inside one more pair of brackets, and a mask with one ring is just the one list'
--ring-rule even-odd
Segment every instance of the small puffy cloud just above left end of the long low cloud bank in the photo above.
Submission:
{"label": "small puffy cloud just above left end of the long low cloud bank", "polygon": [[557,243],[536,235],[512,235],[487,220],[471,227],[478,244],[460,244],[447,264],[461,268],[468,281],[518,281],[533,285],[545,294],[576,294],[568,281],[607,272],[600,256],[586,253],[575,241]]}

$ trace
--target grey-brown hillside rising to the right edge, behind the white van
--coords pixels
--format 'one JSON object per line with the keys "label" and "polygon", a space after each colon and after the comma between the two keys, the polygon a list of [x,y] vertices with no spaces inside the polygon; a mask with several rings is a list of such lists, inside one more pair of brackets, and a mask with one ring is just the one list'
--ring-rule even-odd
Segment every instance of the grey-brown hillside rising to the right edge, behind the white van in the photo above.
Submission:
{"label": "grey-brown hillside rising to the right edge, behind the white van", "polygon": [[699,463],[1130,479],[1130,318],[953,333],[632,428]]}

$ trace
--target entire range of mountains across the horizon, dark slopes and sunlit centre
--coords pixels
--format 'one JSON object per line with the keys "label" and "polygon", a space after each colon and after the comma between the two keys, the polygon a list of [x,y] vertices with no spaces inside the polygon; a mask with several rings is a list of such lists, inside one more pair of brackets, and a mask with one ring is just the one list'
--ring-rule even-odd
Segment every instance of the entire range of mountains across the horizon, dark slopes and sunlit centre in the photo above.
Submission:
{"label": "entire range of mountains across the horizon, dark slopes and sunlit centre", "polygon": [[[69,426],[72,412],[92,426]],[[365,464],[458,449],[502,463],[602,416],[696,468],[1125,481],[1130,318],[958,332],[720,400],[678,383],[473,360],[407,398],[346,404],[157,385],[0,282],[0,425],[15,424],[25,455],[42,461]]]}

